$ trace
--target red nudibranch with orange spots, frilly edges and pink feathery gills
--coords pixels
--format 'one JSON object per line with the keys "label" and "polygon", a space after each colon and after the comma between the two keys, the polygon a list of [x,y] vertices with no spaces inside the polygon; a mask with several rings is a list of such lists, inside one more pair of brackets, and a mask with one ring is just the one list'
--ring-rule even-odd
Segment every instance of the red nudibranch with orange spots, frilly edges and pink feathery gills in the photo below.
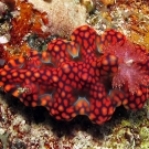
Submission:
{"label": "red nudibranch with orange spots, frilly edges and pink feathery gills", "polygon": [[[128,44],[115,30],[98,35],[83,25],[70,41],[55,39],[42,53],[32,50],[10,60],[0,70],[0,86],[25,106],[44,106],[56,119],[86,115],[100,125],[110,119],[117,106],[138,109],[147,100],[149,54],[139,45],[126,49]],[[141,54],[140,60],[135,53]]]}

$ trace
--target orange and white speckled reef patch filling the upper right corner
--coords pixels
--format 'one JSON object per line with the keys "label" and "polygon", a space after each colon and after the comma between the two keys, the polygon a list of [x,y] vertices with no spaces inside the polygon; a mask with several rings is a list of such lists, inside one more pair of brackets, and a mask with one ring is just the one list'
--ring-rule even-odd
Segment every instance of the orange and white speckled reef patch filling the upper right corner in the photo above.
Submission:
{"label": "orange and white speckled reef patch filling the upper right corner", "polygon": [[131,42],[149,50],[148,4],[147,0],[117,0],[115,4],[108,8],[97,3],[96,9],[98,11],[88,15],[87,23],[94,26],[99,34],[106,29],[116,29],[127,35]]}

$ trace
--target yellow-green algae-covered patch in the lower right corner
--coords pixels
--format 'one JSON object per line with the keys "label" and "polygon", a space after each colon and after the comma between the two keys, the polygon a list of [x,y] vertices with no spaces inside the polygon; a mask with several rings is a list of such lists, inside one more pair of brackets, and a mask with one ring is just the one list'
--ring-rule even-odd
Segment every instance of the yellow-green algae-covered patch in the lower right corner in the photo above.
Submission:
{"label": "yellow-green algae-covered patch in the lower right corner", "polygon": [[128,119],[123,119],[113,130],[109,146],[113,149],[149,148],[149,120],[145,109],[131,111]]}

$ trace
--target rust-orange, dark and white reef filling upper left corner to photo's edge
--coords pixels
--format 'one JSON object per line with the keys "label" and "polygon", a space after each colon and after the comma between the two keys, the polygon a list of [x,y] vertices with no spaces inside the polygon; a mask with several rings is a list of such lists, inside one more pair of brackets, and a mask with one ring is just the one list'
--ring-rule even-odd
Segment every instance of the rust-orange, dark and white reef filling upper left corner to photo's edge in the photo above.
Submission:
{"label": "rust-orange, dark and white reef filling upper left corner to photo's edge", "polygon": [[[6,9],[1,15],[1,50],[6,60],[25,55],[30,51],[26,39],[30,34],[47,38],[50,32],[43,32],[42,26],[47,23],[46,13],[33,9],[24,1],[6,1]],[[24,21],[25,20],[25,21]],[[23,25],[22,25],[23,24]]]}

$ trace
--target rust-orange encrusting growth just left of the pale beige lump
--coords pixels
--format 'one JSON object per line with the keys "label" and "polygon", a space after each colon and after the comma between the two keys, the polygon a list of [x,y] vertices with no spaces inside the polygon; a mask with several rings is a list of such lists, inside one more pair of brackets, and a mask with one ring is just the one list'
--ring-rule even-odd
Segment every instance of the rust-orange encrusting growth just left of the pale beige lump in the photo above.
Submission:
{"label": "rust-orange encrusting growth just left of the pale beige lump", "polygon": [[[47,23],[46,13],[38,12],[36,10],[33,10],[32,4],[20,1],[15,3],[14,9],[19,9],[18,13],[20,17],[15,14],[15,17],[13,17],[13,19],[11,20],[11,45],[19,46],[21,44],[20,41],[22,41],[28,33],[33,32],[43,35],[42,23],[44,25]],[[44,35],[46,34],[44,33]]]}

